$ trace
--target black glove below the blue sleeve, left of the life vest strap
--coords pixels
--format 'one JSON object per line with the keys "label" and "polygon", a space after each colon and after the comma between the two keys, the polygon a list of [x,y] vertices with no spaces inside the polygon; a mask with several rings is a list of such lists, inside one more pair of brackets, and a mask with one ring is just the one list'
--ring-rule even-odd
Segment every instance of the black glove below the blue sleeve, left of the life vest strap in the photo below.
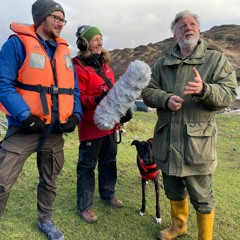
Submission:
{"label": "black glove below the blue sleeve, left of the life vest strap", "polygon": [[46,130],[45,123],[37,116],[30,114],[22,121],[26,133],[43,133]]}

